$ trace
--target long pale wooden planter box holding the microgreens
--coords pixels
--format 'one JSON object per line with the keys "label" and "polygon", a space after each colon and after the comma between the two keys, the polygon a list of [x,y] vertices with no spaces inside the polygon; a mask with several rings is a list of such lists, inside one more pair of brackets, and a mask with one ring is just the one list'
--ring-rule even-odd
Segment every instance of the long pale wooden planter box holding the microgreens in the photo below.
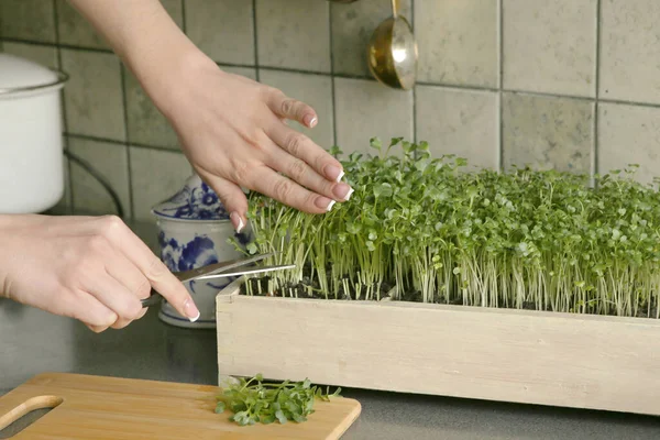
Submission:
{"label": "long pale wooden planter box holding the microgreens", "polygon": [[660,415],[660,320],[442,306],[217,298],[224,376]]}

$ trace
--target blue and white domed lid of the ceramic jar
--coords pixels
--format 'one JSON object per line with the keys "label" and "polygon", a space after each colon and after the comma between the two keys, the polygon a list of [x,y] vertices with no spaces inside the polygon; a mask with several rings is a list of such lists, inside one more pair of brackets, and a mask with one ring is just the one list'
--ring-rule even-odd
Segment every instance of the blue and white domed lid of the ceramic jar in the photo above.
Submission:
{"label": "blue and white domed lid of the ceramic jar", "polygon": [[174,196],[156,205],[152,213],[170,220],[229,220],[229,212],[218,195],[194,174]]}

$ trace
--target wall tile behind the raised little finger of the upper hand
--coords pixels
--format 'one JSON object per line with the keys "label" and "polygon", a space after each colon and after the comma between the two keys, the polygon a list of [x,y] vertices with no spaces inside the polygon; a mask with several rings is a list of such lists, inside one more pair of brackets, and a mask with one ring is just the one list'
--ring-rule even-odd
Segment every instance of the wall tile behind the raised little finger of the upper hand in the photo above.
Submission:
{"label": "wall tile behind the raised little finger of the upper hand", "polygon": [[287,96],[315,109],[319,122],[314,129],[307,129],[294,121],[289,121],[289,127],[305,133],[323,148],[330,148],[334,143],[330,77],[267,69],[262,69],[260,75],[262,82],[278,88]]}

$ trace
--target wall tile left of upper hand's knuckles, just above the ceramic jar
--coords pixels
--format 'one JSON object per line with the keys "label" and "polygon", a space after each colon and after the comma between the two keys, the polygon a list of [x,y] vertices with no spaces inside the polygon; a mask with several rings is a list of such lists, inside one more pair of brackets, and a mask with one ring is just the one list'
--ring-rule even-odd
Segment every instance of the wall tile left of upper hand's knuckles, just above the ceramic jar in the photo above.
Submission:
{"label": "wall tile left of upper hand's knuckles, just above the ceramic jar", "polygon": [[151,209],[184,185],[191,167],[183,154],[131,146],[131,190],[134,218],[152,221]]}

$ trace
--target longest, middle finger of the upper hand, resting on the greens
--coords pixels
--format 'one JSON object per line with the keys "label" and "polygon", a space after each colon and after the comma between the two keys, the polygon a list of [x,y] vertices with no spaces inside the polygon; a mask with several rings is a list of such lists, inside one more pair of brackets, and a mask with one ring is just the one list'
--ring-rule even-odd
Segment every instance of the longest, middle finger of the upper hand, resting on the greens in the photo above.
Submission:
{"label": "longest, middle finger of the upper hand, resting on the greens", "polygon": [[[277,146],[274,145],[274,148],[277,148]],[[333,200],[346,201],[353,194],[353,188],[346,183],[336,183],[323,178],[305,161],[294,157],[290,154],[282,154],[282,152],[275,151],[268,161],[268,165],[307,189]]]}

